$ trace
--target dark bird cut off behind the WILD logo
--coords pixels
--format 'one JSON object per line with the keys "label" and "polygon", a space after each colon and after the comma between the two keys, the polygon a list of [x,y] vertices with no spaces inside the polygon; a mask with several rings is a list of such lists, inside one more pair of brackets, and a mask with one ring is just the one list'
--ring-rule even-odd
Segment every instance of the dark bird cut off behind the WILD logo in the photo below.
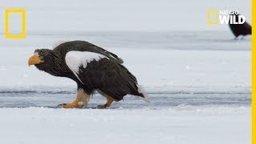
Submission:
{"label": "dark bird cut off behind the WILD logo", "polygon": [[[231,15],[235,15],[235,22],[238,22],[239,14],[230,14],[230,16]],[[230,20],[231,20],[231,18],[230,18]],[[243,36],[246,36],[247,34],[251,34],[251,26],[247,22],[244,22],[243,24],[230,24],[230,22],[229,22],[229,26],[230,26],[232,33],[235,36],[234,39],[238,38],[238,36],[240,36],[240,35],[242,35],[242,37],[243,37]]]}

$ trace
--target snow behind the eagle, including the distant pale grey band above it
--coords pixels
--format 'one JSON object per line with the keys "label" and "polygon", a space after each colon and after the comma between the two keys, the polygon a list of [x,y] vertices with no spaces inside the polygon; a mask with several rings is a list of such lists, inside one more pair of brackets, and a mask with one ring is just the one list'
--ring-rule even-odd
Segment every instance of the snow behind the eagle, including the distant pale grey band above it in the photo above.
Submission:
{"label": "snow behind the eagle, including the distant pale grey band above it", "polygon": [[32,35],[24,42],[6,40],[6,46],[0,46],[0,89],[49,90],[54,86],[50,89],[75,90],[76,85],[70,79],[38,71],[34,66],[29,67],[27,61],[35,49],[51,49],[61,39],[82,39],[118,54],[137,76],[139,84],[151,92],[250,92],[250,37],[233,40],[230,32],[195,32],[195,35],[174,32],[177,38],[168,38],[168,34],[173,32],[81,36],[64,33],[52,37],[38,35],[40,38]]}

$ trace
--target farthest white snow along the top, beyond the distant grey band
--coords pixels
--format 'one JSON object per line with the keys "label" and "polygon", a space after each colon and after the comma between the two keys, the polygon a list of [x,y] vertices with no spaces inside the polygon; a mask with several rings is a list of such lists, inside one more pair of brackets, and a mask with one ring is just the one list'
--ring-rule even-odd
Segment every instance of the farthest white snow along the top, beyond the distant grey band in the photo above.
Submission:
{"label": "farthest white snow along the top, beyond the distant grey band", "polygon": [[[208,25],[207,10],[238,10],[251,23],[250,0],[0,0],[0,3],[2,11],[26,9],[27,31],[42,34],[56,31],[78,34],[114,30],[228,30],[226,25]],[[3,30],[4,26],[0,26],[0,31]]]}

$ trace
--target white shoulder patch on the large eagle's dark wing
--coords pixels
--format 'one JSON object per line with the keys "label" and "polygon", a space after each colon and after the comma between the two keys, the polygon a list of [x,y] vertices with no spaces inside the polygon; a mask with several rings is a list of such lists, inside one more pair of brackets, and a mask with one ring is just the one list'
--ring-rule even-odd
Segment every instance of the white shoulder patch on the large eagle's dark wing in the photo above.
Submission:
{"label": "white shoulder patch on the large eagle's dark wing", "polygon": [[[74,75],[78,78],[79,67],[86,68],[87,64],[93,60],[99,61],[102,58],[107,58],[102,54],[97,54],[89,51],[70,51],[66,54],[66,65],[72,70]],[[78,78],[80,82],[80,78]],[[83,83],[83,82],[82,82]]]}

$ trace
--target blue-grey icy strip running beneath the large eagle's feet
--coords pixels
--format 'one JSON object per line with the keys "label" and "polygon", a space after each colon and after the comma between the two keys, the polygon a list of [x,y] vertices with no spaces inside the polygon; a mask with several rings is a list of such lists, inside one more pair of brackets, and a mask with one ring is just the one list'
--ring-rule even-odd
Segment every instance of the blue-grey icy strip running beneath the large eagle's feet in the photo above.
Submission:
{"label": "blue-grey icy strip running beneath the large eagle's feet", "polygon": [[[38,90],[2,90],[1,107],[48,106],[57,107],[63,102],[72,102],[75,92],[38,91]],[[166,108],[169,106],[250,106],[250,93],[217,93],[217,92],[150,92],[154,106],[149,106],[142,98],[126,96],[123,101],[114,102],[111,108]],[[88,105],[95,108],[106,102],[99,94],[94,94]]]}

